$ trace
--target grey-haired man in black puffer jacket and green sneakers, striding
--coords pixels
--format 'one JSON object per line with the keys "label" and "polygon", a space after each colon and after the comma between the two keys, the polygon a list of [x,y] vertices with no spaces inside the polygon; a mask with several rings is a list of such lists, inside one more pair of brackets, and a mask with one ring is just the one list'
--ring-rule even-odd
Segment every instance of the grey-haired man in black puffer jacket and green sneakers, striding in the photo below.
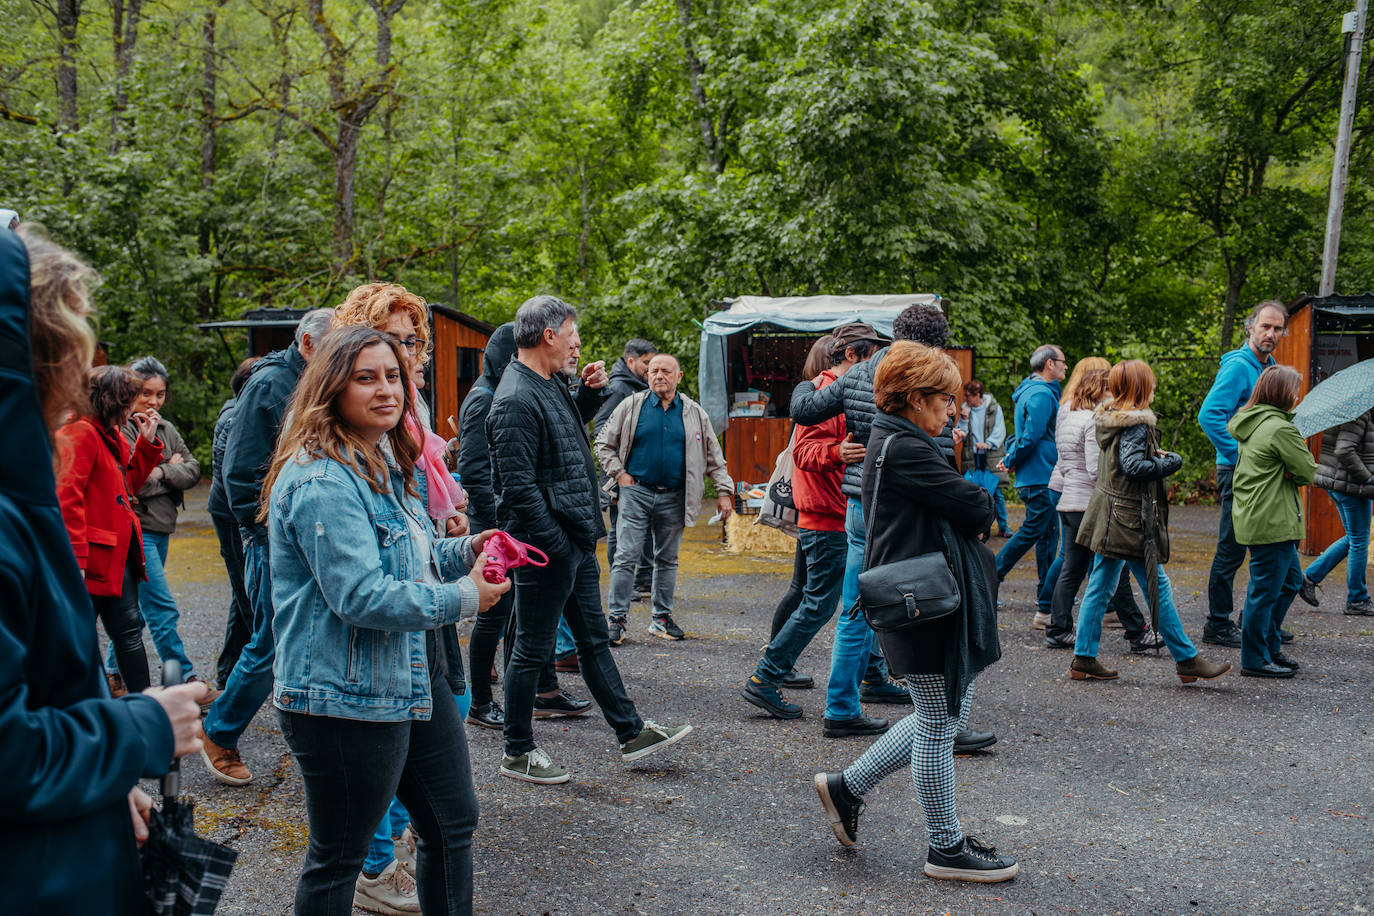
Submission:
{"label": "grey-haired man in black puffer jacket and green sneakers, striding", "polygon": [[[566,783],[570,776],[534,744],[530,718],[540,669],[554,656],[559,617],[577,641],[583,680],[616,731],[621,758],[635,761],[691,731],[644,722],[620,680],[600,606],[596,541],[605,537],[587,420],[600,404],[606,367],[592,363],[574,400],[556,375],[574,347],[577,312],[540,295],[515,313],[515,358],[486,417],[492,483],[504,529],[548,555],[548,566],[515,570],[515,651],[506,673],[503,776]],[[569,597],[573,600],[569,602]]]}

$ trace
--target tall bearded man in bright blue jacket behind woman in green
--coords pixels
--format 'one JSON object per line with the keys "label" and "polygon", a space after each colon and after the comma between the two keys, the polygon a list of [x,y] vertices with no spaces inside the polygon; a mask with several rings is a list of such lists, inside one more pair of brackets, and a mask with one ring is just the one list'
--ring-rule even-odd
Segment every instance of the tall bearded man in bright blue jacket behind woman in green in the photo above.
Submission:
{"label": "tall bearded man in bright blue jacket behind woman in green", "polygon": [[1231,474],[1235,471],[1237,445],[1226,430],[1246,401],[1260,372],[1274,365],[1274,347],[1287,328],[1287,309],[1278,299],[1256,305],[1245,319],[1245,343],[1221,356],[1221,369],[1198,411],[1198,424],[1216,446],[1216,490],[1221,499],[1221,522],[1212,558],[1212,575],[1206,584],[1208,617],[1202,641],[1241,648],[1241,628],[1231,621],[1235,573],[1245,562],[1245,548],[1235,541],[1231,527]]}

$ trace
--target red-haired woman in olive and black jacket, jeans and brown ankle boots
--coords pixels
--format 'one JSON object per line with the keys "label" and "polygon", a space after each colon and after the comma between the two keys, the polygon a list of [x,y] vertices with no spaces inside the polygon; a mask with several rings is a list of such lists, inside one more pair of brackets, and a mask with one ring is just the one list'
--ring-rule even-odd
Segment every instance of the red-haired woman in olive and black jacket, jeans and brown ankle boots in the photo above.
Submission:
{"label": "red-haired woman in olive and black jacket, jeans and brown ankle boots", "polygon": [[[1113,680],[1117,672],[1098,661],[1102,615],[1127,567],[1146,595],[1158,588],[1160,636],[1169,647],[1179,680],[1191,684],[1231,670],[1209,662],[1183,630],[1164,564],[1169,562],[1169,501],[1164,481],[1183,467],[1183,456],[1160,448],[1160,430],[1150,402],[1154,372],[1142,360],[1117,363],[1107,374],[1112,402],[1096,409],[1101,449],[1098,479],[1079,526],[1079,544],[1098,555],[1088,592],[1079,608],[1070,680]],[[1153,569],[1151,569],[1153,566]]]}

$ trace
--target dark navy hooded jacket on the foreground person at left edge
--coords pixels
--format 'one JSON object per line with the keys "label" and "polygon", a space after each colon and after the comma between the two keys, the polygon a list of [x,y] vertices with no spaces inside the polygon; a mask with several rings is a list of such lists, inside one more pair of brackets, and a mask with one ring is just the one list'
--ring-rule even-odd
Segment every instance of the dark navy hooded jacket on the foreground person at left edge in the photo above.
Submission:
{"label": "dark navy hooded jacket on the foreground person at left edge", "polygon": [[106,689],[34,389],[29,258],[4,228],[0,428],[0,897],[7,913],[142,913],[126,797],[166,772],[172,725]]}

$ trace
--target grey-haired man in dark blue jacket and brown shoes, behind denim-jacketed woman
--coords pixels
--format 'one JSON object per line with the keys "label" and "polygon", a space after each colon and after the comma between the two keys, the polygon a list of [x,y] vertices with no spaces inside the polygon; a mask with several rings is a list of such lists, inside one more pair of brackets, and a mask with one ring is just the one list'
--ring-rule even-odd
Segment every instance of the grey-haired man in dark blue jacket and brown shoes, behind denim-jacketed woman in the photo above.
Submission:
{"label": "grey-haired man in dark blue jacket and brown shoes, behind denim-jacketed woman", "polygon": [[253,365],[239,393],[229,441],[224,446],[224,494],[243,536],[243,584],[253,606],[253,636],[229,672],[228,683],[220,684],[224,692],[210,706],[203,725],[201,759],[210,775],[227,786],[246,786],[253,779],[239,757],[239,736],[272,692],[272,659],[276,656],[272,577],[267,526],[257,520],[262,481],[276,450],[286,405],[305,364],[333,324],[334,309],[306,312],[295,325],[291,346],[273,350]]}

